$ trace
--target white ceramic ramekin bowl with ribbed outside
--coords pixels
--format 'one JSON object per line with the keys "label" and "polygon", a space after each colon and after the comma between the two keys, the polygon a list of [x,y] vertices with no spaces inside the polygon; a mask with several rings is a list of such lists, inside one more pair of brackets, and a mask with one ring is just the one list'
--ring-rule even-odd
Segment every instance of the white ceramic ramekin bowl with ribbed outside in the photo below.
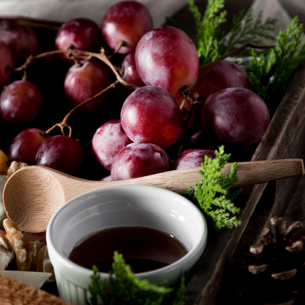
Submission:
{"label": "white ceramic ramekin bowl with ribbed outside", "polygon": [[[173,234],[188,249],[174,263],[136,273],[153,283],[172,285],[190,270],[207,244],[207,224],[202,212],[187,198],[152,186],[126,185],[89,191],[62,206],[51,218],[46,240],[54,267],[59,296],[74,304],[85,304],[93,271],[68,259],[75,244],[93,232],[138,226]],[[90,250],[88,250],[90,255]],[[108,278],[108,273],[100,273]]]}

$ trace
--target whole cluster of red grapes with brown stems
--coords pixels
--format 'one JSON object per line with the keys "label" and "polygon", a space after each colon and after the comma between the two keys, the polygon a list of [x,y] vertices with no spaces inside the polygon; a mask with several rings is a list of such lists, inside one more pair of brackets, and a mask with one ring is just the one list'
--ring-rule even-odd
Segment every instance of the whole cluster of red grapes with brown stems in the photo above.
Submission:
{"label": "whole cluster of red grapes with brown stems", "polygon": [[50,33],[0,20],[9,161],[120,180],[200,166],[218,145],[255,145],[267,130],[244,70],[228,60],[200,67],[191,38],[153,28],[138,1],[115,3],[99,25],[75,18]]}

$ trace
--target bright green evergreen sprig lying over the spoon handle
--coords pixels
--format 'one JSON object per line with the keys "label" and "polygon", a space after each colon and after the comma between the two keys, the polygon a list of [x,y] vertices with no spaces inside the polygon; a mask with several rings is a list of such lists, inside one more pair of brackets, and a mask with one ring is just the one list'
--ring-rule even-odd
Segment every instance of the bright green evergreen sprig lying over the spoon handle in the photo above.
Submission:
{"label": "bright green evergreen sprig lying over the spoon handle", "polygon": [[230,172],[225,176],[221,170],[228,162],[231,154],[224,152],[224,146],[215,151],[216,158],[205,156],[202,163],[202,177],[190,187],[190,199],[211,219],[215,229],[227,227],[232,229],[241,224],[236,214],[240,208],[234,206],[233,200],[241,190],[232,191],[232,185],[238,180],[237,163],[233,163]]}

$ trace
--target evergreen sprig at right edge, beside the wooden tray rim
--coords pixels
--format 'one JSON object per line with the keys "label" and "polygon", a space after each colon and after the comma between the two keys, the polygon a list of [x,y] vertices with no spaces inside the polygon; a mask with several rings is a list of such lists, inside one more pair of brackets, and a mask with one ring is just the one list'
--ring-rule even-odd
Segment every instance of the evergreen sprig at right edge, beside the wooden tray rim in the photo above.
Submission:
{"label": "evergreen sprig at right edge, beside the wooden tray rim", "polygon": [[280,30],[275,47],[260,54],[251,50],[251,65],[246,68],[252,90],[260,95],[270,108],[271,102],[281,100],[292,84],[292,76],[300,61],[305,59],[304,26],[295,17],[286,30]]}

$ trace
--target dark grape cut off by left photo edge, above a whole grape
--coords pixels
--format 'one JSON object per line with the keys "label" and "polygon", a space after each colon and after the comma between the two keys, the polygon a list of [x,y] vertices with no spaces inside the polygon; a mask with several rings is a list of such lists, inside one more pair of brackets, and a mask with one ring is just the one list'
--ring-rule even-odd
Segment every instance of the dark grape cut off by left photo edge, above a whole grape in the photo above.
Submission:
{"label": "dark grape cut off by left photo edge, above a whole grape", "polygon": [[0,40],[0,88],[3,87],[14,68],[14,57],[8,45]]}

